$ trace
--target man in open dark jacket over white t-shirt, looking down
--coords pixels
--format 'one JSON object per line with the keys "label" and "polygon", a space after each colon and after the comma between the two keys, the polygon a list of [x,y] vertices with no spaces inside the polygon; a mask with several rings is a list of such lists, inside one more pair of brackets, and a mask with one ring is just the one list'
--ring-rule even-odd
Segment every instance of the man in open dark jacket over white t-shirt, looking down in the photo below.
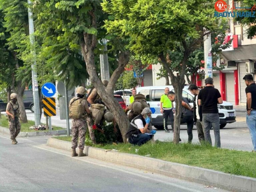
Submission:
{"label": "man in open dark jacket over white t-shirt, looking down", "polygon": [[193,107],[193,112],[194,112],[194,124],[196,125],[197,133],[198,133],[198,139],[200,143],[204,141],[204,126],[203,126],[203,115],[202,115],[202,106],[198,105],[198,94],[199,94],[199,89],[195,84],[191,84],[188,87],[188,90],[195,95],[194,98],[194,107]]}

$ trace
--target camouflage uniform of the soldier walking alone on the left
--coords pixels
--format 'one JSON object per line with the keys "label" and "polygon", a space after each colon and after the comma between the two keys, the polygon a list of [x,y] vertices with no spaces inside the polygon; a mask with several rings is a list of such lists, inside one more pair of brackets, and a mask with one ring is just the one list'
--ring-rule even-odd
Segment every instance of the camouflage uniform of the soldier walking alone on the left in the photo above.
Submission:
{"label": "camouflage uniform of the soldier walking alone on the left", "polygon": [[[12,108],[13,106],[13,108]],[[6,110],[9,111],[11,114],[14,115],[13,109],[16,110],[16,118],[13,119],[10,115],[8,115],[8,120],[9,120],[9,129],[10,129],[10,135],[11,135],[11,140],[15,140],[15,138],[18,136],[20,133],[20,121],[19,121],[19,116],[20,116],[20,109],[18,102],[16,101],[15,104],[12,102],[12,100],[7,104]],[[16,128],[15,128],[15,121],[16,121]]]}

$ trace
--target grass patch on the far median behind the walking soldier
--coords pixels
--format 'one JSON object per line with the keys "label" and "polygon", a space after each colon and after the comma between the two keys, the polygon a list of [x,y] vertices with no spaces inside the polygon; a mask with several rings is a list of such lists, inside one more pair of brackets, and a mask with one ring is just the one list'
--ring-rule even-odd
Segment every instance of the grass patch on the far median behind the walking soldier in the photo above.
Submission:
{"label": "grass patch on the far median behind the walking soldier", "polygon": [[[27,123],[20,123],[21,124],[21,132],[35,132],[35,130],[33,129],[29,129],[29,127],[34,126],[35,122],[34,121],[29,121]],[[9,122],[6,116],[2,115],[2,118],[0,119],[0,126],[1,127],[5,127],[5,128],[9,128]],[[64,129],[62,127],[56,127],[56,126],[52,126],[53,130],[61,130]],[[38,130],[40,132],[42,131],[46,131],[46,130]]]}

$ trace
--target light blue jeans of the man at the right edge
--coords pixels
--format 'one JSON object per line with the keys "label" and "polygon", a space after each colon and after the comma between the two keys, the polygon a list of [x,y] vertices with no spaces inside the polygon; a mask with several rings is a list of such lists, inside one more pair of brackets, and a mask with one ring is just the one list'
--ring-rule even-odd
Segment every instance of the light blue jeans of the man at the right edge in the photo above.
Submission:
{"label": "light blue jeans of the man at the right edge", "polygon": [[256,110],[252,110],[251,115],[246,115],[246,124],[250,130],[253,150],[256,151]]}

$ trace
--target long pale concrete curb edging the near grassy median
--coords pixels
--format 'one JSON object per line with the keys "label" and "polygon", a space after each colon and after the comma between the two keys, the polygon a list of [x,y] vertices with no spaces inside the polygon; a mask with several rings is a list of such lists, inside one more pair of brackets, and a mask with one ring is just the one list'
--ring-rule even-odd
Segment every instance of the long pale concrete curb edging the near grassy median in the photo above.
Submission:
{"label": "long pale concrete curb edging the near grassy median", "polygon": [[[49,138],[47,145],[71,151],[71,142]],[[256,179],[251,177],[231,175],[139,155],[104,151],[104,149],[89,146],[86,146],[84,150],[89,157],[111,163],[144,169],[204,185],[213,185],[233,192],[256,192]]]}

